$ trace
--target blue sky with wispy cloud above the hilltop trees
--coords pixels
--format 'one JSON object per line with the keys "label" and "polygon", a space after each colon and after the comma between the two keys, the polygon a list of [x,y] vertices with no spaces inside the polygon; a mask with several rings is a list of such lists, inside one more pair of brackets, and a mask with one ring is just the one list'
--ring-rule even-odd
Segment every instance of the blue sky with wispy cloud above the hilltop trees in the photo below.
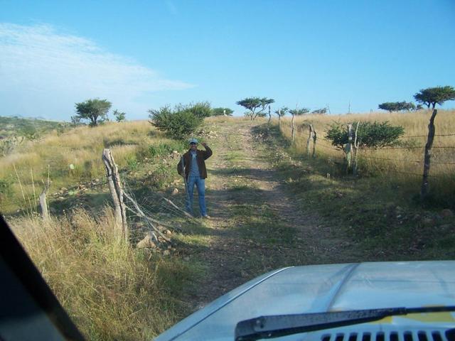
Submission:
{"label": "blue sky with wispy cloud above the hilltop trees", "polygon": [[[250,97],[332,114],[455,86],[455,1],[0,0],[0,115]],[[444,107],[455,107],[448,102]]]}

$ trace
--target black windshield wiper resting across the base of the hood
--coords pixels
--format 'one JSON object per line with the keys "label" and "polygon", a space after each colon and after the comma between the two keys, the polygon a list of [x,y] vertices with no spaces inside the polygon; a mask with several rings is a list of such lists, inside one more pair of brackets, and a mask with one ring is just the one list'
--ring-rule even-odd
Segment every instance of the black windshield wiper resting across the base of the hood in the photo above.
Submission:
{"label": "black windshield wiper resting across the base of the hood", "polygon": [[368,310],[348,310],[327,313],[309,313],[296,315],[272,315],[252,318],[237,323],[235,341],[270,339],[299,332],[311,332],[329,328],[355,325],[380,320],[387,316],[407,315],[411,313],[435,313],[455,311],[455,306],[424,308],[383,308]]}

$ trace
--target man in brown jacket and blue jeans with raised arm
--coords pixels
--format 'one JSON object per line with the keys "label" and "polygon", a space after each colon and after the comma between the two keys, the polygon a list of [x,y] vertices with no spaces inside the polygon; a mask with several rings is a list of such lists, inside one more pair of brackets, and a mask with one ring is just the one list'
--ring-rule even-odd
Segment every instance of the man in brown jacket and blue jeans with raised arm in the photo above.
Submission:
{"label": "man in brown jacket and blue jeans with raised arm", "polygon": [[207,178],[207,169],[205,160],[212,156],[212,150],[204,142],[202,145],[205,151],[198,149],[198,140],[190,139],[190,149],[183,154],[177,165],[178,174],[186,179],[186,210],[193,215],[193,190],[194,185],[198,188],[199,210],[201,217],[209,219],[207,207],[205,207],[205,178]]}

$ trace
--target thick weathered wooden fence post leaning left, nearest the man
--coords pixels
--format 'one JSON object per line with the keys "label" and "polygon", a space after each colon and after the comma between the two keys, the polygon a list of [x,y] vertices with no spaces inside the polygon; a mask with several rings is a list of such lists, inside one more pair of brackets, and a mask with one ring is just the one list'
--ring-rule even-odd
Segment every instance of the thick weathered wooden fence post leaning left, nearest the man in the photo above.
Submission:
{"label": "thick weathered wooden fence post leaning left, nearest the man", "polygon": [[120,181],[119,170],[114,162],[110,149],[102,151],[102,161],[105,163],[107,184],[114,201],[114,215],[117,227],[122,232],[122,237],[128,240],[127,212],[123,203],[123,189]]}

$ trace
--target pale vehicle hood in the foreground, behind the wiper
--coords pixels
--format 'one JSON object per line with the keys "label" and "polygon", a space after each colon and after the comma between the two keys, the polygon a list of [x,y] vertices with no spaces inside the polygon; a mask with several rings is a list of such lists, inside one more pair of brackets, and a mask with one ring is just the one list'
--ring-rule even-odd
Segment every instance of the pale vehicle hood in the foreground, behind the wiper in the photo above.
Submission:
{"label": "pale vehicle hood in the foreground, behind the wiper", "polygon": [[[234,340],[235,325],[240,320],[262,315],[431,305],[455,305],[455,261],[295,266],[269,272],[235,288],[174,325],[156,340]],[[333,330],[326,330],[290,335],[279,340],[324,340],[325,333],[326,341],[332,340],[332,336],[338,341],[336,335],[345,334],[347,341],[353,330],[367,330],[371,335],[372,332],[403,328],[411,328],[410,332],[414,332],[415,338],[409,340],[421,340],[416,328],[426,330],[425,325],[432,328],[427,340],[433,340],[435,328],[455,328],[454,313],[386,318],[376,323],[338,328],[338,334],[333,334],[335,336],[331,335]],[[361,331],[359,335],[358,340],[363,340]],[[393,337],[387,335],[385,341],[392,340]],[[397,334],[399,340],[405,340],[405,336]],[[446,340],[444,333],[441,340]]]}

